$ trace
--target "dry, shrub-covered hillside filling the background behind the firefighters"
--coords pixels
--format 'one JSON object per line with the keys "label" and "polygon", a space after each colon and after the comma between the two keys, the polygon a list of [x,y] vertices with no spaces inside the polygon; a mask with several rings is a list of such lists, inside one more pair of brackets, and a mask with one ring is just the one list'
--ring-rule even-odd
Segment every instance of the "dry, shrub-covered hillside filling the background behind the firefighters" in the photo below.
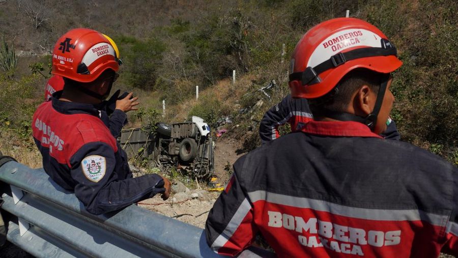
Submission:
{"label": "dry, shrub-covered hillside filling the background behind the firefighters", "polygon": [[[259,145],[263,113],[288,93],[288,64],[297,41],[314,24],[349,9],[351,17],[378,26],[404,62],[391,87],[392,118],[403,140],[458,165],[458,2],[342,3],[0,1],[0,40],[20,55],[14,69],[0,67],[0,150],[19,159],[24,148],[35,151],[29,122],[43,98],[49,54],[58,37],[74,27],[94,28],[119,45],[124,65],[116,88],[133,90],[143,106],[130,114],[131,126],[145,122],[153,109],[161,112],[165,100],[168,122],[195,114],[216,126],[231,116],[230,133],[243,150],[251,150]],[[268,91],[271,98],[256,91],[271,80],[277,85]],[[198,101],[195,85],[202,90]]]}

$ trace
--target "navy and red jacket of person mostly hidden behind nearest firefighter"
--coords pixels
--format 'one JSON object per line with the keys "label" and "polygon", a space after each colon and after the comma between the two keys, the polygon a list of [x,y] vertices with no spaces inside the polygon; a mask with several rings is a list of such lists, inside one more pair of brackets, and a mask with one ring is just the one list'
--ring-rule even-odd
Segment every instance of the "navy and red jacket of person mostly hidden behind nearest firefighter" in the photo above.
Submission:
{"label": "navy and red jacket of person mostly hidden behind nearest firefighter", "polygon": [[[291,131],[300,129],[302,124],[313,120],[312,113],[308,107],[307,99],[293,98],[291,94],[284,97],[280,103],[271,107],[261,120],[259,135],[262,144],[280,137],[278,127],[290,123]],[[400,134],[397,131],[396,123],[389,119],[389,124],[384,133],[381,134],[386,139],[399,140]]]}

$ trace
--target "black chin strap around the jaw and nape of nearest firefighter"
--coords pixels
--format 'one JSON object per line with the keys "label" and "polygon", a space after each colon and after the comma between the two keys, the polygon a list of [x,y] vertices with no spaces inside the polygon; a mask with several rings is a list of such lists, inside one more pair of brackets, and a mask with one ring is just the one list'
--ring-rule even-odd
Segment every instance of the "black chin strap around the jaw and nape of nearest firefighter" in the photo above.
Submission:
{"label": "black chin strap around the jaw and nape of nearest firefighter", "polygon": [[375,130],[377,124],[377,117],[379,116],[380,108],[382,107],[383,98],[385,96],[386,87],[390,77],[387,76],[386,79],[383,79],[383,82],[380,83],[379,93],[377,94],[377,100],[374,106],[374,109],[366,117],[356,116],[355,114],[347,112],[337,112],[331,110],[324,110],[320,114],[328,118],[332,118],[339,121],[355,121],[362,124],[365,124],[371,131]]}

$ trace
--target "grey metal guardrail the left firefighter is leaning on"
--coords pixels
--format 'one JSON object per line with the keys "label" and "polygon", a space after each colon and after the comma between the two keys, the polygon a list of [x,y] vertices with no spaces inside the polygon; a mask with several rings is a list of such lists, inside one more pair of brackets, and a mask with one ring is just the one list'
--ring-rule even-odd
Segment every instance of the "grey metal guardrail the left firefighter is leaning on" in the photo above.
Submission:
{"label": "grey metal guardrail the left firefighter is leaning on", "polygon": [[[219,257],[198,227],[131,205],[95,216],[43,171],[15,161],[0,166],[7,239],[37,257]],[[253,248],[240,257],[271,256]]]}

